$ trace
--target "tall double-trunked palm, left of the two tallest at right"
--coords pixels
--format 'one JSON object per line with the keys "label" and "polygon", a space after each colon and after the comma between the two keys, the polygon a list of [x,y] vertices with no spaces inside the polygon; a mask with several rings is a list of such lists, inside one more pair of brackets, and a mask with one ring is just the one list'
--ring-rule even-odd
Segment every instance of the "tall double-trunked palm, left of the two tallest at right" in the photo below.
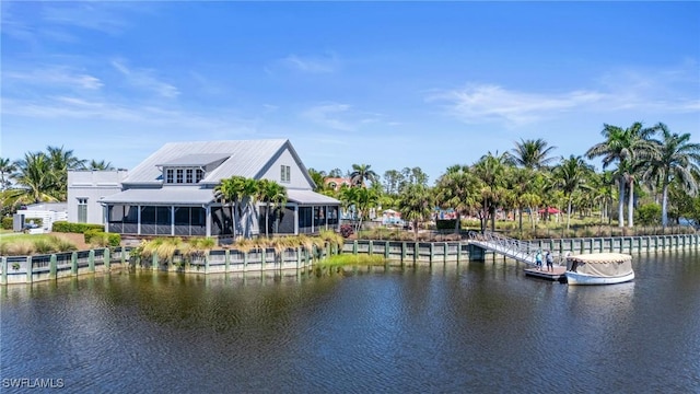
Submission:
{"label": "tall double-trunked palm, left of the two tallest at right", "polygon": [[618,216],[619,227],[625,227],[625,186],[629,185],[628,225],[631,228],[634,210],[634,179],[640,170],[650,163],[657,152],[656,143],[650,137],[656,128],[644,128],[635,121],[622,129],[618,126],[604,125],[600,134],[605,141],[596,143],[586,152],[588,159],[603,157],[603,170],[611,163],[617,163],[616,176],[619,182]]}

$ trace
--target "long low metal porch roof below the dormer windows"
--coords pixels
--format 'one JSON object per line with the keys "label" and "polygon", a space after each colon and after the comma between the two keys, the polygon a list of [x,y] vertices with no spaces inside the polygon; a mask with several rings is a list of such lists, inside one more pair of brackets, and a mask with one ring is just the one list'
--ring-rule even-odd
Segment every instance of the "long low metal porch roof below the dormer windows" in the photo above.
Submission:
{"label": "long low metal porch roof below the dormer windows", "polygon": [[105,204],[203,205],[214,200],[213,189],[198,186],[165,186],[162,188],[132,188],[103,197]]}

